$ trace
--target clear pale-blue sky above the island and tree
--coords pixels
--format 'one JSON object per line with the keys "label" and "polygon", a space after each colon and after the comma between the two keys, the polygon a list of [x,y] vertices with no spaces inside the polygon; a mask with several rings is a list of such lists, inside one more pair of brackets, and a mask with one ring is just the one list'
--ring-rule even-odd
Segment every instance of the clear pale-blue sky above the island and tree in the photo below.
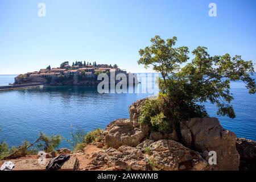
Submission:
{"label": "clear pale-blue sky above the island and tree", "polygon": [[[38,16],[40,2],[46,17]],[[216,17],[208,15],[211,2]],[[84,60],[151,72],[138,66],[138,50],[155,35],[256,63],[255,8],[255,0],[0,0],[0,74]]]}

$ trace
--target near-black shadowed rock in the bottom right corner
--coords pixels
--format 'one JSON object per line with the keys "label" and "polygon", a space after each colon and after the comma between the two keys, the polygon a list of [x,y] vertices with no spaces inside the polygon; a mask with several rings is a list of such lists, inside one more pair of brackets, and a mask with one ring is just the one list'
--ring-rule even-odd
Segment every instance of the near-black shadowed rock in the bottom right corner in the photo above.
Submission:
{"label": "near-black shadowed rock in the bottom right corner", "polygon": [[237,138],[236,148],[240,154],[241,171],[256,171],[256,142],[245,138]]}

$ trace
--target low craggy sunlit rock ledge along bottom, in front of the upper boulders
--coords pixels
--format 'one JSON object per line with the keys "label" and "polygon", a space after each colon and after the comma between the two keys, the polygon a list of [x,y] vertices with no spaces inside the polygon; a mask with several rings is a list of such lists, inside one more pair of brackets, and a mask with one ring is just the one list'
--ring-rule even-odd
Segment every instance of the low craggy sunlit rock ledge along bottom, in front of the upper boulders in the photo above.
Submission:
{"label": "low craggy sunlit rock ledge along bottom, in front of the upper boulders", "polygon": [[[147,150],[146,150],[147,148]],[[147,151],[147,152],[146,152]],[[198,152],[192,151],[174,140],[145,140],[136,148],[121,146],[117,150],[95,152],[89,168],[112,170],[145,171],[162,169],[178,170],[208,170],[208,163]]]}

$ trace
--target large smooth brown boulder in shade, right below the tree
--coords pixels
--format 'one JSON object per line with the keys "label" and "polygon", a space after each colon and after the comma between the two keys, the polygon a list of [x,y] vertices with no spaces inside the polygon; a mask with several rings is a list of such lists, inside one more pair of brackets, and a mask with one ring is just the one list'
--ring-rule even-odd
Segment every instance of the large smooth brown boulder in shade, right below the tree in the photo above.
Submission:
{"label": "large smooth brown boulder in shade, right below the tree", "polygon": [[237,137],[225,130],[217,118],[192,118],[181,123],[181,137],[183,144],[193,150],[204,154],[216,152],[217,164],[212,165],[213,170],[238,170]]}

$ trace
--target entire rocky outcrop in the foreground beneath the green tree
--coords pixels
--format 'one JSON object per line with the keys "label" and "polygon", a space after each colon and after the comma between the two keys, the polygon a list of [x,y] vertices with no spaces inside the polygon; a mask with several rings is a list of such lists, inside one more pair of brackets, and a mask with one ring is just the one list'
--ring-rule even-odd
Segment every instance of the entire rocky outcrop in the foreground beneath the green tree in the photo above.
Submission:
{"label": "entire rocky outcrop in the foreground beneath the green tree", "polygon": [[[255,142],[237,139],[217,118],[192,118],[176,132],[161,134],[139,125],[144,100],[129,107],[129,119],[117,119],[102,131],[101,146],[86,169],[110,170],[255,170]],[[212,151],[216,163],[210,163]],[[240,160],[241,158],[241,160]]]}

